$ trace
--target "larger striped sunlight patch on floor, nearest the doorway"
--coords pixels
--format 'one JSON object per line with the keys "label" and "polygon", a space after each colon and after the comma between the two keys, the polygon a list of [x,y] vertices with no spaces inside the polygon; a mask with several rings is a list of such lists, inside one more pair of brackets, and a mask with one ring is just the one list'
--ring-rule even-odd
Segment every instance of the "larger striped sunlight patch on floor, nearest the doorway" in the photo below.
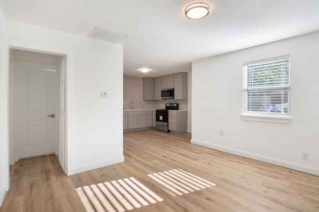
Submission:
{"label": "larger striped sunlight patch on floor, nearest the doorway", "polygon": [[88,212],[125,212],[163,201],[133,177],[75,190]]}

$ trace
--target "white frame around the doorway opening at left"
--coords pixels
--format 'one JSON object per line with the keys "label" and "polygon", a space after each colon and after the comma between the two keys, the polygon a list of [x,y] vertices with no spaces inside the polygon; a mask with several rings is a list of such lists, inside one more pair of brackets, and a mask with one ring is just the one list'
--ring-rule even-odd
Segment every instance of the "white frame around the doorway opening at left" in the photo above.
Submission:
{"label": "white frame around the doorway opening at left", "polygon": [[[25,50],[25,51],[32,51],[32,52],[39,52],[39,53],[46,53],[46,54],[53,54],[58,56],[64,56],[65,57],[65,167],[64,172],[67,175],[72,175],[74,173],[73,168],[73,146],[74,146],[74,118],[73,118],[73,105],[74,105],[74,89],[73,89],[73,50],[68,48],[59,48],[59,47],[53,47],[48,45],[41,45],[37,43],[29,43],[29,42],[21,42],[16,40],[7,39],[6,42],[3,45],[4,47],[4,60],[6,61],[3,63],[3,70],[4,72],[4,88],[6,88],[6,99],[8,100],[9,97],[9,50],[10,49],[18,49],[18,50]],[[4,111],[7,111],[6,114],[9,114],[9,108],[8,108],[9,102],[7,101],[6,104],[4,104]],[[4,137],[6,137],[5,140],[7,140],[7,155],[4,157],[9,158],[9,125],[8,120],[9,116],[4,117],[4,121],[7,123],[6,127],[6,134]],[[7,160],[7,165],[9,166],[9,160]],[[9,176],[8,179],[9,181]],[[5,180],[6,181],[6,180]]]}

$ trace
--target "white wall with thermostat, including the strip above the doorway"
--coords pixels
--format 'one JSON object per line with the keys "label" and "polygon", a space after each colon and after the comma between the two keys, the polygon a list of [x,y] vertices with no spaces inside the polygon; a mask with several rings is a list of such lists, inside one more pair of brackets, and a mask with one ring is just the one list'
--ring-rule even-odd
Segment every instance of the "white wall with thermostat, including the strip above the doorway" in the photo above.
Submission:
{"label": "white wall with thermostat, including the strip above the doorway", "polygon": [[68,174],[124,161],[123,46],[9,20],[5,29],[7,47],[67,55]]}

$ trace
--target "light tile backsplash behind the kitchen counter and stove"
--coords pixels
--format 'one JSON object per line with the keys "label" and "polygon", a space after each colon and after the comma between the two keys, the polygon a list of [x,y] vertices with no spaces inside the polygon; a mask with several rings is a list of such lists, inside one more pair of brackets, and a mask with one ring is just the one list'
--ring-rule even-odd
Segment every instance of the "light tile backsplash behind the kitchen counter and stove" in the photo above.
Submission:
{"label": "light tile backsplash behind the kitchen counter and stove", "polygon": [[179,109],[187,109],[187,100],[143,100],[143,78],[123,76],[123,109],[159,109],[165,103],[178,103]]}

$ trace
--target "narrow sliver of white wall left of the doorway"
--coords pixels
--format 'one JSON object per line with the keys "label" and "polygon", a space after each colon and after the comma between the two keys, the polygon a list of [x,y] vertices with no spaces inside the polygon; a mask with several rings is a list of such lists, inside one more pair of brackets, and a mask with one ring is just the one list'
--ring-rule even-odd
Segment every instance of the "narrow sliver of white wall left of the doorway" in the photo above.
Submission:
{"label": "narrow sliver of white wall left of the doorway", "polygon": [[0,206],[9,188],[7,142],[7,71],[4,70],[4,17],[0,8]]}

